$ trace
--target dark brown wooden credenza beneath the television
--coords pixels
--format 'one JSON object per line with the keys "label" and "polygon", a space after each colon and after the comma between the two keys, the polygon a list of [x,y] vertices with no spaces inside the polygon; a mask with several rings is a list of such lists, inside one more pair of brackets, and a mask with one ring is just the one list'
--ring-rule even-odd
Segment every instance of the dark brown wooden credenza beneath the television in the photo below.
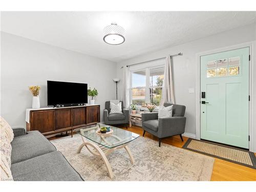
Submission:
{"label": "dark brown wooden credenza beneath the television", "polygon": [[31,110],[27,131],[39,131],[43,135],[71,131],[100,122],[100,105],[74,106],[46,110]]}

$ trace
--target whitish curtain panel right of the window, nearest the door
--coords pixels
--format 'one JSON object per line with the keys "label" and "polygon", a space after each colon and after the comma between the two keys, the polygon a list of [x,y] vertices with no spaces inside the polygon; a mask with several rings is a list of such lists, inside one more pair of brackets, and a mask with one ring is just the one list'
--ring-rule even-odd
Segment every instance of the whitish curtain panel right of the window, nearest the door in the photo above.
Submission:
{"label": "whitish curtain panel right of the window, nearest the door", "polygon": [[165,59],[165,69],[164,69],[164,77],[163,77],[163,89],[162,89],[162,97],[160,101],[160,105],[163,103],[174,103],[174,89],[173,89],[173,69],[172,69],[172,57],[167,56]]}

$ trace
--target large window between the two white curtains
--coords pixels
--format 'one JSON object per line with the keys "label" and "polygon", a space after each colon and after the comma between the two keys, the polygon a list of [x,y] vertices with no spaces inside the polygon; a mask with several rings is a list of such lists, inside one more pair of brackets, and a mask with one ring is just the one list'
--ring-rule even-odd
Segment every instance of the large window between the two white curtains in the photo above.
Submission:
{"label": "large window between the two white curtains", "polygon": [[163,76],[163,65],[133,71],[131,73],[132,103],[143,105],[151,102],[159,106],[162,96]]}

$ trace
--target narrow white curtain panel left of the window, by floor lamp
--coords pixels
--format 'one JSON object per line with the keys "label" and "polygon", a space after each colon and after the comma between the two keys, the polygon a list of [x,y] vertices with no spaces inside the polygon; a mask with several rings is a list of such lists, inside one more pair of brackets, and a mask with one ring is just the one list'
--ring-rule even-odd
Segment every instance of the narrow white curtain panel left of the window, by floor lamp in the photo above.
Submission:
{"label": "narrow white curtain panel left of the window, by floor lamp", "polygon": [[130,78],[129,78],[129,68],[123,67],[123,88],[122,88],[122,101],[123,106],[126,109],[129,109],[130,106]]}

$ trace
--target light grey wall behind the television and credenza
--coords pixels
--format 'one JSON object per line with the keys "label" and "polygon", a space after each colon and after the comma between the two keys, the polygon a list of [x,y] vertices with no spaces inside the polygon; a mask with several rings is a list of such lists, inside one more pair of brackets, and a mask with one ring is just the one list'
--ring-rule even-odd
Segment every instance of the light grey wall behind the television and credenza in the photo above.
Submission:
{"label": "light grey wall behind the television and credenza", "polygon": [[47,106],[47,80],[95,87],[102,120],[104,102],[115,99],[115,77],[115,62],[1,32],[1,116],[11,126],[26,124],[25,110],[32,107],[28,86],[41,86],[40,104]]}

